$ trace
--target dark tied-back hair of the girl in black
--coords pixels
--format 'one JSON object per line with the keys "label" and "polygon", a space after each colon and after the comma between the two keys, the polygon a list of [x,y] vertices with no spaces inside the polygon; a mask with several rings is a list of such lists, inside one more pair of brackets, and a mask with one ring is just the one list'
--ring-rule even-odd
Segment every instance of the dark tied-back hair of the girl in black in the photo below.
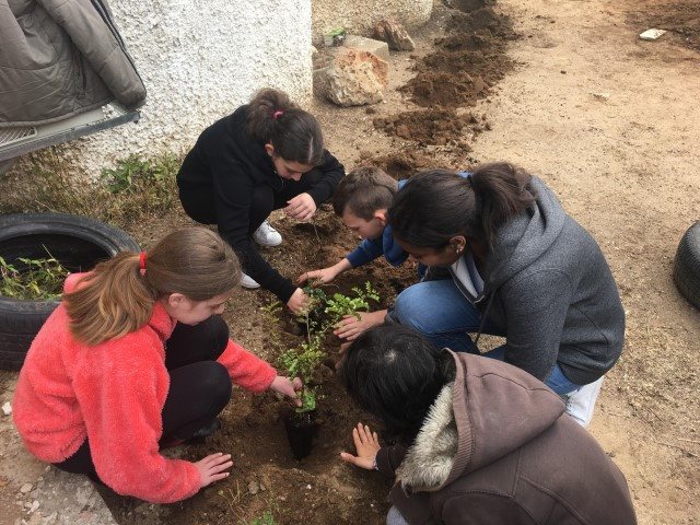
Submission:
{"label": "dark tied-back hair of the girl in black", "polygon": [[279,90],[258,91],[247,108],[248,132],[270,143],[285,161],[317,166],[324,156],[324,137],[316,118]]}

